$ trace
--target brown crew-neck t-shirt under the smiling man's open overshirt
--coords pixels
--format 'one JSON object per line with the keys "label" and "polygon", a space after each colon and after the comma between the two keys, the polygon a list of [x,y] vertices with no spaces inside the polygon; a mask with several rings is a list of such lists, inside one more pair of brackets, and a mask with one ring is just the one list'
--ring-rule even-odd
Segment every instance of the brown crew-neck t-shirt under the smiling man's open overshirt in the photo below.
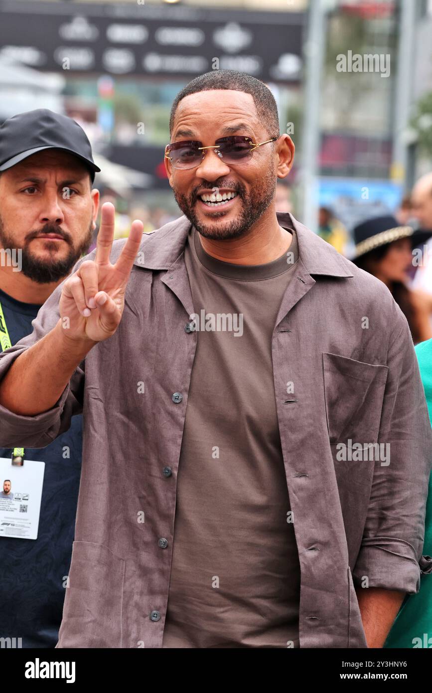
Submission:
{"label": "brown crew-neck t-shirt under the smiling man's open overshirt", "polygon": [[271,359],[298,259],[289,230],[287,253],[264,265],[219,261],[195,227],[188,236],[197,351],[162,647],[298,647],[300,564]]}

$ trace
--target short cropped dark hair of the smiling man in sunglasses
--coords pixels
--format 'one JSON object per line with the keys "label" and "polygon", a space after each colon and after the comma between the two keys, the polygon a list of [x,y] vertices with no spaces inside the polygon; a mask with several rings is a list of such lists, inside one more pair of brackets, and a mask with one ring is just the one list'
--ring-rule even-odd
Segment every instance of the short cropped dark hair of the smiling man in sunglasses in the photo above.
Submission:
{"label": "short cropped dark hair of the smiling man in sunglasses", "polygon": [[172,103],[170,136],[174,130],[174,116],[181,99],[189,96],[189,94],[197,94],[198,91],[210,91],[210,89],[234,89],[234,91],[244,91],[246,94],[251,94],[258,118],[264,125],[269,139],[279,137],[278,107],[270,89],[261,80],[236,70],[213,70],[188,82],[186,87],[179,91]]}

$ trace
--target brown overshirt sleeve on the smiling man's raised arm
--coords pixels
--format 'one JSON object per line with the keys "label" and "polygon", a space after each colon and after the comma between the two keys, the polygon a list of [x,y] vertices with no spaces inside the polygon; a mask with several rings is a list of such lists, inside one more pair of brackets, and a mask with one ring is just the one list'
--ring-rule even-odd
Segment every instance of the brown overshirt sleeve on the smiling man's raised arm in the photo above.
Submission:
{"label": "brown overshirt sleeve on the smiling man's raised arm", "polygon": [[[89,256],[80,258],[75,263],[71,273],[87,259],[93,259],[92,252]],[[70,276],[70,275],[69,275]],[[33,332],[23,337],[17,344],[6,351],[0,352],[0,380],[6,375],[8,369],[21,353],[30,349],[44,335],[50,332],[60,319],[59,301],[63,284],[55,288],[51,296],[46,299],[37,316],[32,321]],[[44,374],[40,374],[41,378]],[[15,446],[28,448],[44,448],[57,436],[64,433],[71,426],[71,418],[75,414],[82,413],[84,394],[84,360],[75,369],[71,380],[64,388],[62,395],[55,405],[41,414],[34,416],[22,416],[15,414],[0,405],[0,447],[13,448]]]}

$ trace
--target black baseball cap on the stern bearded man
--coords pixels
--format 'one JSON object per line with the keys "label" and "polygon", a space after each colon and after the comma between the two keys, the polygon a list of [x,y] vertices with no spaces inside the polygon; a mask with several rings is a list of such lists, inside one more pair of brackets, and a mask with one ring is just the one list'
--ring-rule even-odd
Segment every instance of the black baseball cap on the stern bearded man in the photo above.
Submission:
{"label": "black baseball cap on the stern bearded man", "polygon": [[73,119],[47,108],[19,113],[0,125],[0,171],[43,149],[62,149],[81,159],[91,180],[100,171],[91,155],[91,145],[81,126]]}

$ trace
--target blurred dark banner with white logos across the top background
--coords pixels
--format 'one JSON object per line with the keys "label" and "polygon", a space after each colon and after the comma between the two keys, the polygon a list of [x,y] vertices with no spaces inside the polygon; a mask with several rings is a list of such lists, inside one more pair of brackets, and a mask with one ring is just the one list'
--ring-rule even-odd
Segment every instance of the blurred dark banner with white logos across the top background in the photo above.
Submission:
{"label": "blurred dark banner with white logos across the top background", "polygon": [[219,67],[298,82],[304,28],[299,12],[0,0],[0,51],[51,72],[192,78]]}

